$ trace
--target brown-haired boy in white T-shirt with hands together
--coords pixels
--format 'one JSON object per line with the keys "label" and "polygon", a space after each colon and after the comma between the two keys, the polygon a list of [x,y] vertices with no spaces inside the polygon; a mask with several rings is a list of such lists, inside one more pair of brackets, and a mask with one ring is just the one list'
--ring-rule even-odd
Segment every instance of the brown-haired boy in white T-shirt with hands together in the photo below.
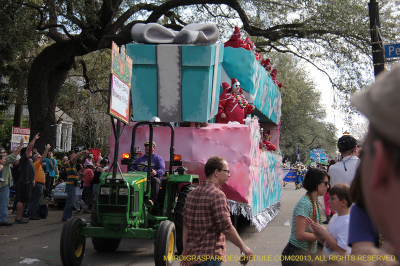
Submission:
{"label": "brown-haired boy in white T-shirt with hands together", "polygon": [[350,219],[349,186],[337,183],[329,190],[328,204],[331,211],[336,212],[328,223],[326,230],[322,225],[315,224],[311,219],[305,219],[305,226],[314,234],[319,243],[323,244],[323,255],[349,255],[351,248],[347,246],[348,223]]}

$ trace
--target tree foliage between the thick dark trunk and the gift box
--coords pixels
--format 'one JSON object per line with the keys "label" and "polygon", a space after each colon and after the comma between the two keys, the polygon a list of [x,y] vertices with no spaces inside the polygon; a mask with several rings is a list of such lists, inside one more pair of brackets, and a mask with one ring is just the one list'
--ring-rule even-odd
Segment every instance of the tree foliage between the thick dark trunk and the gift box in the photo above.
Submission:
{"label": "tree foliage between the thick dark trunk and the gift box", "polygon": [[[84,79],[79,68],[70,71],[67,82],[60,91],[57,106],[73,120],[72,146],[76,152],[101,149],[101,154],[109,152],[110,118],[106,114],[108,106],[108,79],[111,65],[109,50],[96,51],[78,60],[84,60],[89,90],[83,89]],[[62,157],[65,155],[62,155]],[[62,159],[62,157],[60,157]]]}

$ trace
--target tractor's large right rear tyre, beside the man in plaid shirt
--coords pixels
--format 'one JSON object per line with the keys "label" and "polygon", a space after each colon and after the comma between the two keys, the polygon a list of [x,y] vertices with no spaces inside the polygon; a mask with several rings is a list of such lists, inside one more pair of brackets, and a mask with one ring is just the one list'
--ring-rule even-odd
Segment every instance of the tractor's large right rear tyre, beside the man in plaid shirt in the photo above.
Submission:
{"label": "tractor's large right rear tyre, beside the man in plaid shirt", "polygon": [[182,213],[183,213],[183,207],[186,202],[187,195],[195,189],[197,185],[189,184],[189,185],[184,185],[178,195],[178,200],[176,202],[175,206],[175,227],[176,227],[176,251],[178,255],[180,256],[183,251],[183,240],[182,240],[182,235],[183,235],[183,218],[182,218]]}

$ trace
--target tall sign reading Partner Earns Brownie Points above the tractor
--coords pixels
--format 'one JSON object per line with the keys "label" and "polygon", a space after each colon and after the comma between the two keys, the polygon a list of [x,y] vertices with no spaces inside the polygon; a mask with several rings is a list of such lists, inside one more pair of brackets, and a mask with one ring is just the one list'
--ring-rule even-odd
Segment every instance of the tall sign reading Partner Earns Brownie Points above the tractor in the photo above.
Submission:
{"label": "tall sign reading Partner Earns Brownie Points above the tractor", "polygon": [[112,42],[111,74],[108,88],[108,114],[129,123],[130,78],[132,59],[119,53],[119,47]]}

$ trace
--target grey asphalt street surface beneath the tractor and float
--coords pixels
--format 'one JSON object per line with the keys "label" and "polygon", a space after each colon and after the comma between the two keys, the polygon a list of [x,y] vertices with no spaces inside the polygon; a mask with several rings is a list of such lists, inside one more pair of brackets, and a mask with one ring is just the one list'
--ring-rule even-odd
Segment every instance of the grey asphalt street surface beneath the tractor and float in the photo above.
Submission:
{"label": "grey asphalt street surface beneath the tractor and float", "polygon": [[[290,226],[284,226],[289,220],[291,223],[292,209],[305,190],[294,190],[294,183],[283,188],[281,197],[281,211],[261,231],[255,230],[249,222],[239,221],[238,233],[245,245],[254,255],[263,258],[263,261],[251,261],[248,266],[280,265],[275,256],[280,253],[290,235]],[[323,205],[322,197],[319,202]],[[321,212],[323,212],[321,210]],[[62,210],[50,208],[47,219],[29,221],[28,224],[14,224],[11,227],[0,227],[0,265],[17,266],[26,259],[36,259],[34,265],[61,266],[59,256],[59,242],[63,222]],[[89,214],[74,215],[90,222]],[[8,211],[8,222],[13,222],[15,215]],[[323,219],[325,220],[325,219]],[[153,266],[154,240],[122,239],[119,249],[114,253],[99,253],[93,249],[91,239],[86,239],[85,255],[82,266]],[[233,244],[226,243],[227,256],[239,256],[239,249]],[[264,257],[262,257],[264,256]],[[271,256],[271,257],[268,257]],[[231,257],[234,258],[234,257]],[[271,259],[270,261],[266,261]],[[22,264],[23,265],[23,264]],[[179,265],[178,262],[173,264]],[[236,265],[237,261],[227,261],[226,266]]]}

